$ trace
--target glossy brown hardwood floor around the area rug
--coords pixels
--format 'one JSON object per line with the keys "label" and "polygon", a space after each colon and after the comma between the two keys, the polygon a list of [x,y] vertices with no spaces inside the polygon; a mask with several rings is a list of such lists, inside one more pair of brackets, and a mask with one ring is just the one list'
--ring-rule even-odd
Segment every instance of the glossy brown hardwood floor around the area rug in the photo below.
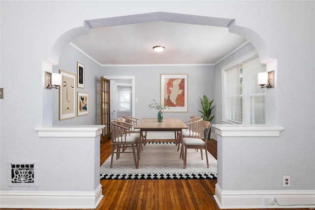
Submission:
{"label": "glossy brown hardwood floor around the area rug", "polygon": [[[217,141],[208,140],[207,147],[217,158]],[[102,142],[100,165],[110,154],[110,141]],[[220,209],[213,198],[216,179],[100,180],[100,183],[104,197],[96,210]]]}

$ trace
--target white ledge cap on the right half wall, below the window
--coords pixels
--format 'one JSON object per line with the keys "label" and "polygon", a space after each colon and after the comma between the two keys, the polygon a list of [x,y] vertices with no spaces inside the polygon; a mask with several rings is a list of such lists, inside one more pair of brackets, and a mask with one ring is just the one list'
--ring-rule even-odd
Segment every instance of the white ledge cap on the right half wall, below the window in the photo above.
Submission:
{"label": "white ledge cap on the right half wall, below the window", "polygon": [[269,125],[214,124],[215,133],[221,137],[280,137],[284,127]]}

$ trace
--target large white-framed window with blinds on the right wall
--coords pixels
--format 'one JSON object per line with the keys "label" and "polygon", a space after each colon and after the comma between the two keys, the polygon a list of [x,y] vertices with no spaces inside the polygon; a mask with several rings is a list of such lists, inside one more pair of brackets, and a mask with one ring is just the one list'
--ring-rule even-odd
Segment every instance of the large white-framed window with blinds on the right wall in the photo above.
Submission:
{"label": "large white-framed window with blinds on the right wall", "polygon": [[[236,124],[265,124],[265,88],[257,84],[257,74],[266,71],[259,57],[243,58],[238,65],[222,68],[223,120]],[[251,56],[252,57],[252,56]],[[242,63],[241,63],[242,62]]]}

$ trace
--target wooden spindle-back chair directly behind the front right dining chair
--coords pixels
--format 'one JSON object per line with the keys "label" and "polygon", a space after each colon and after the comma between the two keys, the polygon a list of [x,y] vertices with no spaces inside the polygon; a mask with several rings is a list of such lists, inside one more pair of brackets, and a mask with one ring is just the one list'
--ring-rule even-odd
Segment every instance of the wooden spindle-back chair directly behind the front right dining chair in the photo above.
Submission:
{"label": "wooden spindle-back chair directly behind the front right dining chair", "polygon": [[[191,119],[184,121],[184,123],[187,126],[187,129],[182,129],[180,134],[177,134],[177,141],[178,141],[178,147],[177,151],[179,151],[181,138],[179,138],[179,135],[182,135],[183,138],[189,137],[189,138],[201,138],[202,131],[201,131],[201,126],[200,122],[203,121],[202,117],[191,117]],[[180,158],[182,158],[182,150],[180,153]]]}

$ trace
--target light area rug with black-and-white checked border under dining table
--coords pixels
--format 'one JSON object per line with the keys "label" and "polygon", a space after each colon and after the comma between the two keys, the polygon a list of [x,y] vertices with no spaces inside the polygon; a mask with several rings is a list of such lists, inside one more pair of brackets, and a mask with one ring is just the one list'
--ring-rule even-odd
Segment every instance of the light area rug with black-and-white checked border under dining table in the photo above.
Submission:
{"label": "light area rug with black-and-white checked border under dining table", "polygon": [[187,150],[187,167],[179,158],[180,151],[173,142],[147,142],[140,153],[139,169],[135,169],[132,153],[121,154],[113,168],[111,156],[100,167],[100,179],[216,179],[217,160],[208,152],[209,168],[203,151]]}

